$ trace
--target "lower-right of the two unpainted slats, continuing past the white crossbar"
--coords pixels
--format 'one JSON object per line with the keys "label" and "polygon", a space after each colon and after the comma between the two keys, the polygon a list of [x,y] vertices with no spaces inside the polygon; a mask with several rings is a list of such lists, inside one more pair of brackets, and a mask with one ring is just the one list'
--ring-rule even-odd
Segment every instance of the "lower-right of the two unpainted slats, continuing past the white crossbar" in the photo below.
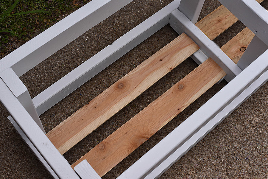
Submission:
{"label": "lower-right of the two unpainted slats, continuing past the white crossbar", "polygon": [[[221,49],[237,62],[243,54],[240,48],[247,47],[253,36],[246,28]],[[225,75],[209,58],[71,167],[86,159],[103,176]]]}

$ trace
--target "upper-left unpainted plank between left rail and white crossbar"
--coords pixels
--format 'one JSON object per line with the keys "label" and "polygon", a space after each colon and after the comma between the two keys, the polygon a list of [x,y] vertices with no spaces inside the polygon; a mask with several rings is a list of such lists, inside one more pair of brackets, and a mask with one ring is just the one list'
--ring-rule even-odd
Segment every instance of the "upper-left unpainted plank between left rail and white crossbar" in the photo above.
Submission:
{"label": "upper-left unpainted plank between left rail and white crossbar", "polygon": [[186,34],[180,35],[60,123],[47,137],[61,154],[65,153],[198,49]]}

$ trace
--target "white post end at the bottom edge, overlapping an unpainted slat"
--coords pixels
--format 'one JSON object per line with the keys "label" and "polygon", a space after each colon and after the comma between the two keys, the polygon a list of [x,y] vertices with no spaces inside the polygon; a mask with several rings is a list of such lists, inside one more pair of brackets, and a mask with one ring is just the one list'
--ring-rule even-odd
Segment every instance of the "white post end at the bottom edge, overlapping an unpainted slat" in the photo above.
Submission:
{"label": "white post end at the bottom edge, overlapping an unpainted slat", "polygon": [[87,160],[83,160],[74,167],[74,171],[82,179],[101,179],[97,172],[92,168]]}

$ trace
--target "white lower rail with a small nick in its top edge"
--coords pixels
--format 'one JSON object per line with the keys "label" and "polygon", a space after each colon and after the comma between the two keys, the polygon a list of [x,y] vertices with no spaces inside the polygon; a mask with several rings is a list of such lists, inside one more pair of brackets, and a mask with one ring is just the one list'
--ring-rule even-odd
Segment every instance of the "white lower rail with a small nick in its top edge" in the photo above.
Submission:
{"label": "white lower rail with a small nick in its top edge", "polygon": [[105,47],[99,53],[35,96],[32,100],[37,113],[41,115],[139,43],[168,24],[170,13],[179,4],[180,0],[172,1],[166,7],[114,41],[112,45]]}

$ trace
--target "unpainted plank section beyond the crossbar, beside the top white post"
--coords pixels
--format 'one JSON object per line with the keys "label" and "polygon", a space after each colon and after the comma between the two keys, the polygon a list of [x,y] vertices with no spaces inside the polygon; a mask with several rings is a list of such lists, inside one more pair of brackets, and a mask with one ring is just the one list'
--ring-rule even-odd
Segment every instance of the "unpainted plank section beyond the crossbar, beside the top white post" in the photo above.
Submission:
{"label": "unpainted plank section beyond the crossbar, beside the top white post", "polygon": [[[264,0],[256,1],[261,3]],[[195,25],[208,36],[208,38],[213,40],[237,21],[238,18],[236,18],[236,16],[234,16],[226,7],[221,5],[198,21]]]}

